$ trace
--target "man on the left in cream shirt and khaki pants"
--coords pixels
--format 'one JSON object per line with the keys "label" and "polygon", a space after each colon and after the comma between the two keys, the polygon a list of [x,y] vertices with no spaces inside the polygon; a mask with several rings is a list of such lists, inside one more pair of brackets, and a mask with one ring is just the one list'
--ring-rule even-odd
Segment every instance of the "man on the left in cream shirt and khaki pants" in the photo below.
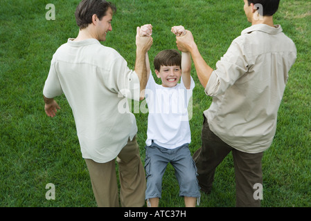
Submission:
{"label": "man on the left in cream shirt and khaki pants", "polygon": [[136,120],[129,110],[118,110],[118,106],[124,97],[139,100],[144,90],[145,54],[152,37],[141,37],[137,28],[136,64],[130,70],[116,50],[100,44],[112,31],[114,10],[104,0],[80,2],[75,11],[78,37],[60,46],[51,61],[43,91],[45,111],[54,117],[60,107],[53,97],[64,93],[98,206],[119,206],[115,159],[121,206],[143,206],[145,171],[136,142]]}

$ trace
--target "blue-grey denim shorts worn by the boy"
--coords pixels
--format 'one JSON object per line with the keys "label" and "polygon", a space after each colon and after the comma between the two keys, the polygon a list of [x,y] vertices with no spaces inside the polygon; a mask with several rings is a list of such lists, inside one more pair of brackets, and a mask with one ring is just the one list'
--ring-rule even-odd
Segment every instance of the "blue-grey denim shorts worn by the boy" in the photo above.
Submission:
{"label": "blue-grey denim shorts worn by the boy", "polygon": [[161,198],[162,177],[170,162],[179,183],[179,196],[200,198],[197,167],[191,157],[188,144],[174,149],[163,148],[154,142],[145,146],[145,173],[147,189],[145,199]]}

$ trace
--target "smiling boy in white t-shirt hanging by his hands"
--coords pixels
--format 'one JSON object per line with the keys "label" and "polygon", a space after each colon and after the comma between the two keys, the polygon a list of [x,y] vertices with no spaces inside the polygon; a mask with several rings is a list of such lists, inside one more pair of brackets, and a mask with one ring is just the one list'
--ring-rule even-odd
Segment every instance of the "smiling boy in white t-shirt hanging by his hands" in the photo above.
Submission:
{"label": "smiling boy in white t-shirt hanging by his hands", "polygon": [[[149,28],[149,29],[148,29]],[[182,26],[172,27],[175,35],[185,35]],[[141,35],[151,35],[152,26],[141,28]],[[154,69],[162,84],[156,84],[150,73],[146,54],[147,85],[145,99],[148,104],[148,131],[146,140],[145,171],[147,189],[145,199],[148,206],[159,206],[163,173],[170,162],[179,182],[179,195],[184,196],[186,206],[195,207],[200,193],[197,169],[190,155],[190,126],[188,102],[195,83],[190,76],[190,54],[177,50],[163,50],[154,58]],[[179,82],[180,79],[180,83]]]}

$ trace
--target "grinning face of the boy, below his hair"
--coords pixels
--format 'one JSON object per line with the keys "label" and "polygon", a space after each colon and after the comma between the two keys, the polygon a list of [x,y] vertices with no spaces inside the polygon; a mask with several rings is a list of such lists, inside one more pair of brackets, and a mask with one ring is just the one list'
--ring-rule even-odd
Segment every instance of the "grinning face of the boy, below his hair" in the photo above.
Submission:
{"label": "grinning face of the boy, below his hair", "polygon": [[162,86],[166,88],[176,86],[182,74],[180,66],[161,66],[160,71],[155,70],[155,73],[161,78]]}

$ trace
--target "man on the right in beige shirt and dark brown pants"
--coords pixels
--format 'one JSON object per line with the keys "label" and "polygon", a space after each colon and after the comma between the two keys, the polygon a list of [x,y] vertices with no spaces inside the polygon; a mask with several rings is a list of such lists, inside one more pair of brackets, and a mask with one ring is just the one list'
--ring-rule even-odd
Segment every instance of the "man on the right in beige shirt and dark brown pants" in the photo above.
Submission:
{"label": "man on the right in beige shirt and dark brown pants", "polygon": [[204,111],[202,147],[193,155],[199,185],[203,191],[211,191],[217,165],[232,151],[236,206],[260,206],[261,160],[276,132],[277,112],[296,47],[281,26],[274,25],[279,1],[244,2],[252,26],[233,40],[215,70],[200,55],[190,31],[177,37],[177,47],[191,53],[199,81],[206,95],[213,97]]}

